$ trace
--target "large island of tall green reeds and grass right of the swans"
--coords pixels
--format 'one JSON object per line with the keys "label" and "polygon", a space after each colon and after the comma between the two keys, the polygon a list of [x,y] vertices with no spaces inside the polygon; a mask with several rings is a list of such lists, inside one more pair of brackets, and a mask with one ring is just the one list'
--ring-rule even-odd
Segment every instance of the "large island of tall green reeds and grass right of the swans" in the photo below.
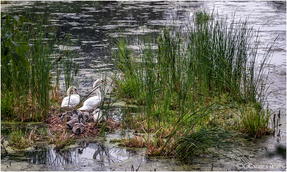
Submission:
{"label": "large island of tall green reeds and grass right of the swans", "polygon": [[[136,117],[123,124],[134,126],[136,119],[140,127],[134,128],[147,134],[149,155],[224,156],[224,150],[238,156],[234,145],[245,137],[239,131],[262,137],[269,130],[270,110],[263,109],[268,96],[265,67],[276,40],[257,65],[258,31],[248,18],[235,22],[234,16],[197,11],[187,25],[171,21],[158,39],[142,36],[139,55],[129,50],[125,35],[112,38],[116,48],[110,49],[121,72],[113,79],[117,95],[135,98],[139,105]],[[166,140],[152,143],[159,135]]]}

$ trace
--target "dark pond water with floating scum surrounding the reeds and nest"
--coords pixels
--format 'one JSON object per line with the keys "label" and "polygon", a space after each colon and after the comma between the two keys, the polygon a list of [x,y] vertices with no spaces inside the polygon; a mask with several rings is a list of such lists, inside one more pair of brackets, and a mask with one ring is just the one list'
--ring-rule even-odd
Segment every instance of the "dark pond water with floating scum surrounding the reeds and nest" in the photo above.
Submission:
{"label": "dark pond water with floating scum surrounding the reeds and nest", "polygon": [[[267,137],[254,145],[247,145],[242,151],[250,157],[251,163],[265,165],[260,171],[286,171],[286,159],[281,157],[270,159],[267,156],[267,152],[274,151],[276,146],[286,146],[286,1],[12,1],[7,6],[7,11],[10,11],[10,7],[17,15],[19,12],[22,15],[42,13],[45,19],[49,18],[56,26],[58,36],[65,36],[68,32],[74,37],[79,35],[79,45],[76,49],[79,50],[79,57],[83,58],[79,70],[81,77],[79,90],[82,94],[87,93],[98,75],[101,76],[103,72],[113,73],[106,34],[115,33],[119,27],[123,28],[124,34],[133,45],[132,48],[139,51],[137,45],[141,41],[141,35],[154,34],[156,37],[158,29],[170,20],[186,24],[192,20],[193,13],[198,9],[205,8],[206,11],[215,9],[219,15],[227,14],[230,18],[235,13],[237,21],[241,17],[249,16],[249,23],[254,24],[254,28],[259,29],[261,35],[259,47],[261,54],[269,43],[280,36],[273,49],[274,54],[269,68],[271,74],[267,83],[273,83],[270,89],[277,91],[269,94],[269,107],[274,111],[282,107],[283,117],[278,121],[282,125],[277,129],[283,132],[280,133],[280,141],[274,137]],[[5,5],[1,5],[1,11],[5,10]],[[110,113],[118,116],[115,118],[120,120],[124,112],[115,108],[111,109]],[[110,135],[107,140],[118,137]],[[140,156],[144,152],[144,150],[115,148],[113,145],[104,147],[96,143],[61,152],[53,149],[28,151],[22,157],[1,156],[1,171],[11,171],[9,169],[11,160],[28,162],[15,165],[14,168],[19,167],[19,171],[125,171],[129,170],[131,165],[136,168],[140,163],[140,171],[154,169],[210,171],[211,164],[214,164],[214,171],[240,170],[236,166],[238,162],[233,160],[211,157],[195,158],[192,162],[162,158],[147,159]],[[267,163],[283,163],[283,168],[268,169]],[[38,166],[39,164],[45,166]]]}

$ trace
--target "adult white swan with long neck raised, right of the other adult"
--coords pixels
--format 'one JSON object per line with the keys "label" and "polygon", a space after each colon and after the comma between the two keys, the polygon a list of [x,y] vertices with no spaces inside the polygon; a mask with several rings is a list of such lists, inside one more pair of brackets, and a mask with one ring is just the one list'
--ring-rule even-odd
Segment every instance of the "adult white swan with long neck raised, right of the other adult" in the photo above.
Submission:
{"label": "adult white swan with long neck raised, right of the other adult", "polygon": [[[104,84],[104,81],[101,78],[99,78],[94,82],[93,89],[95,89],[98,83],[100,82]],[[102,101],[101,92],[98,89],[96,89],[95,91],[98,95],[88,98],[86,101],[84,101],[83,106],[81,108],[78,108],[77,110],[81,110],[82,112],[92,112],[98,106],[100,106]]]}

